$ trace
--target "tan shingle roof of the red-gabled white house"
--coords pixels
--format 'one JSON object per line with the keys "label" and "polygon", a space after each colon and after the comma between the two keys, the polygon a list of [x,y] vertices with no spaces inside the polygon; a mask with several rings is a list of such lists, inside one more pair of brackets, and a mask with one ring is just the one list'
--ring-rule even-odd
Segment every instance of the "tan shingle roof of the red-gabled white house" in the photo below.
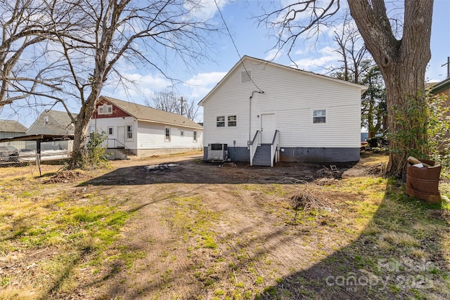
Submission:
{"label": "tan shingle roof of the red-gabled white house", "polygon": [[182,115],[174,114],[172,112],[165,112],[163,110],[157,110],[152,107],[127,102],[111,98],[108,96],[101,96],[100,98],[105,99],[110,103],[113,103],[115,106],[124,110],[124,112],[127,112],[132,117],[138,119],[138,121],[163,123],[168,125],[177,125],[196,129],[203,129],[203,126],[201,126],[200,124],[197,124]]}

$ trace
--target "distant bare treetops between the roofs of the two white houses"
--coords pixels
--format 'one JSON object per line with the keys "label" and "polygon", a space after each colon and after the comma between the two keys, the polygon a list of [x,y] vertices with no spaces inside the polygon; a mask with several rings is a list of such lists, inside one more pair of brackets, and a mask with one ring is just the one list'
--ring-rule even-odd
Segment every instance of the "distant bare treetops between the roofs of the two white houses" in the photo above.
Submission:
{"label": "distant bare treetops between the roofs of the two white houses", "polygon": [[198,116],[199,106],[197,103],[193,100],[184,99],[183,96],[177,95],[174,91],[162,91],[156,93],[152,102],[146,100],[146,105],[156,108],[157,110],[184,115],[192,121],[195,121]]}

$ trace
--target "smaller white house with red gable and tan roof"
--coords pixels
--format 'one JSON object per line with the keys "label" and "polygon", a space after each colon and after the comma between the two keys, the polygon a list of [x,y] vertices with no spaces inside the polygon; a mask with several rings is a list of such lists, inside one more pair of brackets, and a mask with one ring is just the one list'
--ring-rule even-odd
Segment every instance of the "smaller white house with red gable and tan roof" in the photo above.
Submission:
{"label": "smaller white house with red gable and tan roof", "polygon": [[203,126],[172,112],[101,96],[89,131],[105,131],[108,148],[126,148],[137,157],[203,148]]}

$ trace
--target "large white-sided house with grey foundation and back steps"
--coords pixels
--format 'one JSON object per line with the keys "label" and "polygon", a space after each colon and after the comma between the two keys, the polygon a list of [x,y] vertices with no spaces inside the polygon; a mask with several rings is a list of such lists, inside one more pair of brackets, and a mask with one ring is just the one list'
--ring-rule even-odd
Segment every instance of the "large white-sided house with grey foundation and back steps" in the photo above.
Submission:
{"label": "large white-sided house with grey foundation and back steps", "polygon": [[204,159],[226,149],[252,165],[358,161],[366,89],[244,56],[199,103]]}

